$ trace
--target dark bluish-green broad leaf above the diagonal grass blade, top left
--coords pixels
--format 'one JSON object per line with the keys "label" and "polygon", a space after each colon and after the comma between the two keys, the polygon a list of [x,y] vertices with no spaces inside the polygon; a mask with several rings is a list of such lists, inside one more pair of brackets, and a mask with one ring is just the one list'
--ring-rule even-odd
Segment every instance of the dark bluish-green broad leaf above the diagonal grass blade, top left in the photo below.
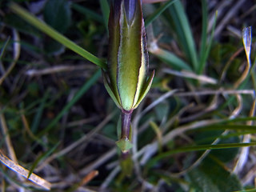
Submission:
{"label": "dark bluish-green broad leaf above the diagonal grass blade, top left", "polygon": [[48,0],[43,16],[47,24],[61,34],[65,33],[71,23],[70,2],[66,0]]}

